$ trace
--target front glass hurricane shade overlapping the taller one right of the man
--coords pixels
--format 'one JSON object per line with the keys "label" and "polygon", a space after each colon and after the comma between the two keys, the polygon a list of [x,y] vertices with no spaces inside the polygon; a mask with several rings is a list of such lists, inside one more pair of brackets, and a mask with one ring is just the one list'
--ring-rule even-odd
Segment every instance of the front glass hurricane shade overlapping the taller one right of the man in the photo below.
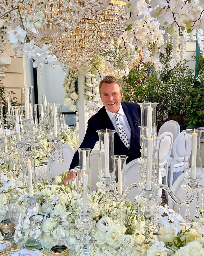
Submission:
{"label": "front glass hurricane shade overlapping the taller one right of the man", "polygon": [[140,158],[139,185],[140,190],[154,191],[158,189],[159,148],[163,137],[142,135],[142,158]]}

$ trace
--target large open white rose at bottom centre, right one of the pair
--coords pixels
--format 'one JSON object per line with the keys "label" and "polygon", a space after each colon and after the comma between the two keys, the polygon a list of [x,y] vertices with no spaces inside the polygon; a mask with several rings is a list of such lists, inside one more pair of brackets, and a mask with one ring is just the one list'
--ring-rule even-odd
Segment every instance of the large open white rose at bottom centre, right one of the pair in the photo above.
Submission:
{"label": "large open white rose at bottom centre, right one of the pair", "polygon": [[106,234],[106,242],[114,248],[118,248],[122,244],[121,237],[122,233],[119,226],[113,225]]}

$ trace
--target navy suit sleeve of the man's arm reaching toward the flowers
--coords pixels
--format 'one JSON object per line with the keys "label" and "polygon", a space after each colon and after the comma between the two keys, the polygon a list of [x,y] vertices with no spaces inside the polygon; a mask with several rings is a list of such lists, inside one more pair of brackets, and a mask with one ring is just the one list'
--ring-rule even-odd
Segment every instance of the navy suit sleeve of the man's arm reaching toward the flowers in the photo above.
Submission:
{"label": "navy suit sleeve of the man's arm reaching toward the flowers", "polygon": [[[79,146],[79,148],[91,148],[91,150],[94,148],[94,145],[98,140],[98,133],[94,128],[92,128],[93,126],[94,126],[93,122],[91,122],[91,119],[89,119],[84,140],[82,141],[82,144]],[[78,165],[79,165],[79,153],[77,151],[73,156],[69,170],[73,169]]]}

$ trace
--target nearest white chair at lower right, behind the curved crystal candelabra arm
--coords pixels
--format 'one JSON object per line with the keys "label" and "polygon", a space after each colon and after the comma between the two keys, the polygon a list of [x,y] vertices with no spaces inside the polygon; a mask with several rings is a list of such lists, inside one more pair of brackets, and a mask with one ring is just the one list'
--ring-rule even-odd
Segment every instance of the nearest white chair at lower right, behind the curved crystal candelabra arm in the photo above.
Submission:
{"label": "nearest white chair at lower right, behind the curved crystal candelabra arm", "polygon": [[[203,168],[204,172],[204,168]],[[181,188],[182,184],[186,184],[186,180],[184,180],[184,173],[182,173],[177,180],[175,180],[173,186],[172,186],[172,191],[173,193],[180,199],[180,200],[186,200],[186,191],[184,191]],[[201,175],[202,180],[200,181],[201,185],[204,185],[204,173]],[[201,205],[201,195],[200,195],[200,205]],[[175,210],[176,212],[179,212],[179,204],[175,203],[171,197],[169,196],[169,208]],[[185,210],[186,210],[186,205],[181,206],[181,215],[185,216]],[[190,219],[195,218],[195,211],[196,211],[196,197],[194,196],[193,201],[189,204],[189,211],[190,211]]]}

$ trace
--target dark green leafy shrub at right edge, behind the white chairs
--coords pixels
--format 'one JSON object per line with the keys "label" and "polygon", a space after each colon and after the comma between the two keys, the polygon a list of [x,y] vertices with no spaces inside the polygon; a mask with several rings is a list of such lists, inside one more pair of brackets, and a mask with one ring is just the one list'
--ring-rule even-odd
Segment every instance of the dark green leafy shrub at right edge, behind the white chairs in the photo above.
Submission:
{"label": "dark green leafy shrub at right edge, behind the white chairs", "polygon": [[186,105],[184,120],[186,125],[204,127],[204,87],[190,88],[184,102]]}

